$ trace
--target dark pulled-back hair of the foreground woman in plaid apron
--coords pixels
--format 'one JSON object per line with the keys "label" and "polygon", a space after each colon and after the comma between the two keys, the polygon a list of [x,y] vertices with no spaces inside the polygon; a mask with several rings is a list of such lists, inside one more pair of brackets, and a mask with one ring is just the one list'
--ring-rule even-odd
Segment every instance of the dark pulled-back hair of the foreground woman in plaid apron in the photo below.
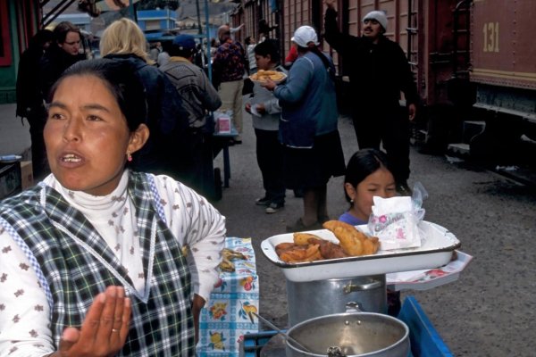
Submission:
{"label": "dark pulled-back hair of the foreground woman in plaid apron", "polygon": [[63,79],[72,76],[94,76],[101,79],[119,105],[130,131],[138,129],[139,124],[145,122],[147,116],[145,89],[127,62],[100,58],[74,63],[54,83],[50,90],[49,102],[52,101]]}

